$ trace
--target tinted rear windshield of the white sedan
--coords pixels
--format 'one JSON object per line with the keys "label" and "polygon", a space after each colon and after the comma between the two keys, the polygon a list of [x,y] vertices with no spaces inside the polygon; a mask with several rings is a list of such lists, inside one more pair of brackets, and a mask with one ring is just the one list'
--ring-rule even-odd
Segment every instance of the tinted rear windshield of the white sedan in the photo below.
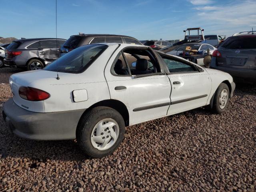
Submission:
{"label": "tinted rear windshield of the white sedan", "polygon": [[[68,52],[58,59],[58,72],[81,73],[94,62],[106,50],[108,46],[102,44],[90,44],[81,46]],[[47,71],[57,71],[57,61],[55,60],[44,68]]]}

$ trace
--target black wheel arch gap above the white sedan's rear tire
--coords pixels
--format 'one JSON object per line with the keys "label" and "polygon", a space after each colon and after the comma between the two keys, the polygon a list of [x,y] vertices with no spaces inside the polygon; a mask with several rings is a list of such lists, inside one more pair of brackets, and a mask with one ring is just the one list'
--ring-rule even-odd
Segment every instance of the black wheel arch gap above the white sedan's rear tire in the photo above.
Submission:
{"label": "black wheel arch gap above the white sedan's rear tire", "polygon": [[[122,117],[124,118],[125,126],[129,126],[129,112],[128,112],[128,109],[127,109],[126,105],[123,102],[121,102],[119,100],[114,100],[114,99],[102,100],[100,102],[97,102],[97,103],[93,104],[92,106],[90,106],[88,109],[86,109],[84,111],[84,113],[80,117],[80,120],[92,108],[99,107],[99,106],[101,106],[101,107],[110,107],[110,108],[113,108],[114,110],[118,111],[122,115]],[[79,120],[79,122],[80,122],[80,120]]]}

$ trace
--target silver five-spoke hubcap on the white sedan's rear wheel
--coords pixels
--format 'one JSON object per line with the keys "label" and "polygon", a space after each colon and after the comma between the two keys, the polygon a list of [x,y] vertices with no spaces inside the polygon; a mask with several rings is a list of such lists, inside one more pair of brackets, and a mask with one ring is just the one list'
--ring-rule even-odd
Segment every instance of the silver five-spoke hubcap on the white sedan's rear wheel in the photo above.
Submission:
{"label": "silver five-spoke hubcap on the white sedan's rear wheel", "polygon": [[99,121],[91,133],[92,146],[98,150],[107,150],[112,147],[119,135],[119,126],[111,118]]}

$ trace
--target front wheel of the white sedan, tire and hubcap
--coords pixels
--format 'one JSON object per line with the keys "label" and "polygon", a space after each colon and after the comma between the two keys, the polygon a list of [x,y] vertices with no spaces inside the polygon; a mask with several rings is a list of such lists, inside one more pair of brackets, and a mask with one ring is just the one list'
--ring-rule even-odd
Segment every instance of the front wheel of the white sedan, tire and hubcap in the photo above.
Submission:
{"label": "front wheel of the white sedan, tire and hubcap", "polygon": [[217,114],[223,113],[228,106],[228,102],[229,88],[227,84],[221,83],[214,94],[212,112]]}

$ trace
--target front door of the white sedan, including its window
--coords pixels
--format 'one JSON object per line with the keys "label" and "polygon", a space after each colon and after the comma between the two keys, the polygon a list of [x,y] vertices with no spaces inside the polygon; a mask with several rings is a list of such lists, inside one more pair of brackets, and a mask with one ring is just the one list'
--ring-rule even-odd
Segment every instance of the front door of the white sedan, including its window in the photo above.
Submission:
{"label": "front door of the white sedan, including its window", "polygon": [[169,70],[172,85],[168,114],[191,110],[206,105],[212,88],[209,74],[186,60],[161,55]]}

